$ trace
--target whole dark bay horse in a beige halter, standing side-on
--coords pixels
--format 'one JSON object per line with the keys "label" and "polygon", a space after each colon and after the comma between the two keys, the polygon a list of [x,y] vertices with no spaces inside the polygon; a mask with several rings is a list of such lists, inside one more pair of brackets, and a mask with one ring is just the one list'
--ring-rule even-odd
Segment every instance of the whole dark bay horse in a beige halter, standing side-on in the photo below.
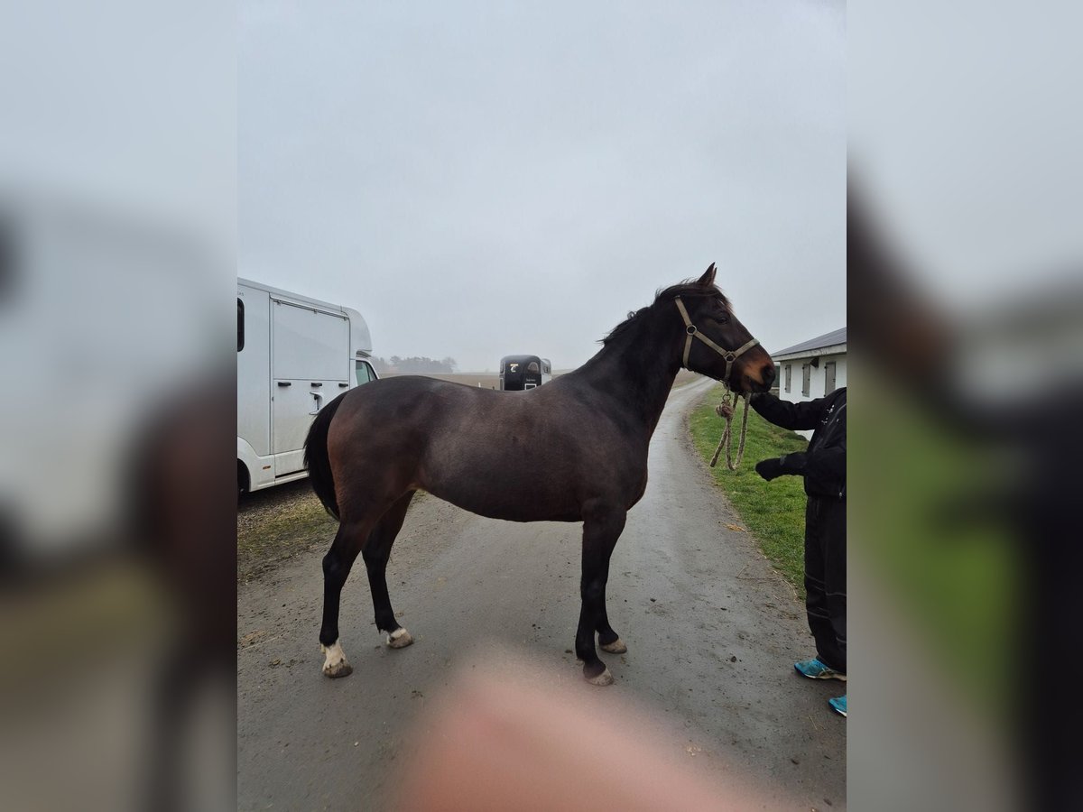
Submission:
{"label": "whole dark bay horse in a beige halter, standing side-on", "polygon": [[384,572],[406,508],[422,489],[493,519],[583,522],[575,653],[587,681],[610,684],[595,633],[602,651],[627,651],[605,614],[610,554],[647,488],[648,445],[677,371],[683,366],[735,391],[766,391],[774,364],[757,344],[715,287],[712,264],[699,280],[657,293],[590,361],[538,389],[499,392],[402,377],[328,403],[305,441],[312,487],[340,522],[324,556],[324,673],[352,671],[338,617],[358,553],[376,627],[392,649],[413,642],[395,619]]}

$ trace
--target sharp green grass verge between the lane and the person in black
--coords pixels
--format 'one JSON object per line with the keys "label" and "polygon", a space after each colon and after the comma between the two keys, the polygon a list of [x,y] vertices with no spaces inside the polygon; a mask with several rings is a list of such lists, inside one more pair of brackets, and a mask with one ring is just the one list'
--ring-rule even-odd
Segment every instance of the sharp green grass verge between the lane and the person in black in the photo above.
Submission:
{"label": "sharp green grass verge between the lane and the person in black", "polygon": [[[705,462],[710,461],[726,428],[726,422],[715,414],[715,406],[721,396],[722,388],[715,387],[689,416],[692,441]],[[733,432],[736,434],[734,454],[740,441],[743,409],[741,405],[733,420]],[[760,550],[793,585],[801,600],[805,600],[804,482],[799,476],[780,476],[773,482],[766,482],[754,467],[761,459],[803,451],[806,446],[808,442],[800,435],[772,425],[753,411],[748,416],[744,461],[736,471],[730,471],[726,467],[723,450],[718,463],[710,469],[715,482],[722,488]]]}

